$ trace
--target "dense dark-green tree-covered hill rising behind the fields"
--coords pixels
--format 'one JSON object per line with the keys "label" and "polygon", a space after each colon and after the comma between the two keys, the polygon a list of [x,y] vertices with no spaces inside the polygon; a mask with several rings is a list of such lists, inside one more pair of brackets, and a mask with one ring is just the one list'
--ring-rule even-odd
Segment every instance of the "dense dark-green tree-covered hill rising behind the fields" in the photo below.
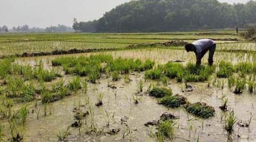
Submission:
{"label": "dense dark-green tree-covered hill rising behind the fields", "polygon": [[90,22],[73,21],[82,32],[161,32],[246,27],[256,23],[256,1],[139,0],[124,3]]}

